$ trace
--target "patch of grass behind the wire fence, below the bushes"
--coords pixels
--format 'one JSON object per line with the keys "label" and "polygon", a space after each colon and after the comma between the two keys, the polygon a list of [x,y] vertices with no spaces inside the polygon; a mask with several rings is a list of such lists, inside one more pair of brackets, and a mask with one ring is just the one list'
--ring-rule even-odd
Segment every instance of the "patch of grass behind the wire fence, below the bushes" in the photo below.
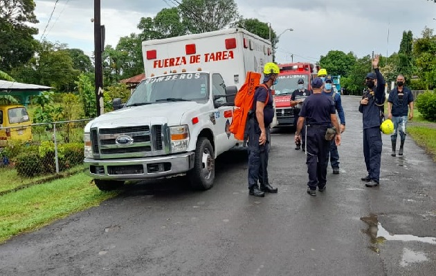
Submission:
{"label": "patch of grass behind the wire fence, below the bushes", "polygon": [[83,171],[85,168],[84,165],[75,166],[69,170],[64,172],[60,172],[59,175],[42,175],[39,177],[21,177],[17,174],[17,170],[15,168],[4,167],[0,168],[0,179],[7,179],[7,181],[0,181],[0,195],[9,190],[14,190],[21,187],[30,186],[33,184],[39,184],[44,182],[45,179],[53,178],[53,177],[66,177],[76,172]]}

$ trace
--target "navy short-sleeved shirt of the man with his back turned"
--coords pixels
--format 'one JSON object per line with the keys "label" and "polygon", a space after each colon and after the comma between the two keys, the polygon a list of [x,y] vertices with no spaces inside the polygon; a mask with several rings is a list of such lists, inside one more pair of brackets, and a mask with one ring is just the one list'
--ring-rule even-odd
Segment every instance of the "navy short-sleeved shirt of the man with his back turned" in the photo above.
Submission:
{"label": "navy short-sleeved shirt of the man with his back turned", "polygon": [[307,97],[300,111],[300,117],[306,118],[306,124],[326,127],[331,124],[331,114],[336,114],[334,102],[320,93]]}

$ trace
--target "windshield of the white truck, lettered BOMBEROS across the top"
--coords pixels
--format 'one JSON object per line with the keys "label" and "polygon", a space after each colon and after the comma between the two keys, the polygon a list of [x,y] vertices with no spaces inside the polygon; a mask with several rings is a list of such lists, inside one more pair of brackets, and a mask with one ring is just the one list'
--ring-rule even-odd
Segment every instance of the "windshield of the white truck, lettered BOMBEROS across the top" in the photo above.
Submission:
{"label": "windshield of the white truck, lettered BOMBEROS across the top", "polygon": [[181,73],[144,79],[134,90],[126,106],[165,101],[203,101],[208,99],[208,73]]}

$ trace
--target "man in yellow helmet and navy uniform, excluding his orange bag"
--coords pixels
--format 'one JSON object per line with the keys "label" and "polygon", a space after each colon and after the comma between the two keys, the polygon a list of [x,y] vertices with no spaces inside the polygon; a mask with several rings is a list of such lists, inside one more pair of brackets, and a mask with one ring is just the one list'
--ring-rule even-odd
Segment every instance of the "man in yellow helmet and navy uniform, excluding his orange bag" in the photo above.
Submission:
{"label": "man in yellow helmet and navy uniform, excluding his orange bag", "polygon": [[[268,180],[269,125],[273,121],[274,107],[271,86],[277,83],[280,72],[277,64],[268,62],[264,66],[264,79],[257,86],[253,108],[248,115],[248,190],[250,195],[264,197],[264,193],[277,193]],[[257,186],[260,182],[260,188]]]}

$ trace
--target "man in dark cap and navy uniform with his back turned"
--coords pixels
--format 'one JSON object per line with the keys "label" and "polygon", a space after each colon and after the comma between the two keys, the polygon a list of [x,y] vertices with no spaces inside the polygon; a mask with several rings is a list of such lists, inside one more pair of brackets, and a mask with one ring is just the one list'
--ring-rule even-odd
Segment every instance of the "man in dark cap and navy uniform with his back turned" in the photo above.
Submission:
{"label": "man in dark cap and navy uniform with his back turned", "polygon": [[316,196],[316,186],[320,192],[324,192],[327,185],[327,152],[330,149],[330,141],[326,139],[326,131],[329,126],[336,128],[335,142],[340,144],[340,126],[336,119],[336,109],[330,97],[321,94],[324,84],[317,77],[312,81],[313,93],[302,105],[300,118],[298,118],[295,141],[301,140],[301,130],[306,120],[306,164],[309,173],[307,193]]}

